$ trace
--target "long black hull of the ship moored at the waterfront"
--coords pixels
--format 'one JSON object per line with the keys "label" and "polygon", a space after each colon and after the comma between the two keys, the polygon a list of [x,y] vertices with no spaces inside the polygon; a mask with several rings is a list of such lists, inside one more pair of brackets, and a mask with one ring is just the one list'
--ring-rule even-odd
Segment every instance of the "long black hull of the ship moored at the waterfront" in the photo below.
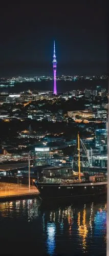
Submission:
{"label": "long black hull of the ship moored at the waterfront", "polygon": [[107,193],[107,182],[99,182],[96,185],[94,183],[60,185],[35,182],[35,186],[39,190],[42,199],[96,197]]}

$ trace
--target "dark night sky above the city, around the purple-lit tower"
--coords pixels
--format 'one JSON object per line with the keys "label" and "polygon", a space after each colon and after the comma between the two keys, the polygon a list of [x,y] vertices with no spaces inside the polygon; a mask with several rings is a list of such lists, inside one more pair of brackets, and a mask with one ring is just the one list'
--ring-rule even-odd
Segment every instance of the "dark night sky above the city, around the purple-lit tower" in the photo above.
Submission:
{"label": "dark night sky above the city, around the purple-lit tower", "polygon": [[106,73],[107,13],[103,2],[2,5],[0,77],[52,75],[53,40],[58,75]]}

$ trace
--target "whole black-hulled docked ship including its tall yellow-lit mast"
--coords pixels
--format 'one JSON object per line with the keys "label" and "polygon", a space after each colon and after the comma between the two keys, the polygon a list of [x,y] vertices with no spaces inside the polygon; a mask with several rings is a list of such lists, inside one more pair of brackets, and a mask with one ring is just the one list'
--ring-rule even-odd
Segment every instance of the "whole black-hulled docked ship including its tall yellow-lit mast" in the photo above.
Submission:
{"label": "whole black-hulled docked ship including its tall yellow-lit mast", "polygon": [[78,133],[78,172],[72,168],[51,168],[42,171],[34,181],[42,199],[96,197],[107,192],[107,176],[85,175],[80,171],[80,138]]}

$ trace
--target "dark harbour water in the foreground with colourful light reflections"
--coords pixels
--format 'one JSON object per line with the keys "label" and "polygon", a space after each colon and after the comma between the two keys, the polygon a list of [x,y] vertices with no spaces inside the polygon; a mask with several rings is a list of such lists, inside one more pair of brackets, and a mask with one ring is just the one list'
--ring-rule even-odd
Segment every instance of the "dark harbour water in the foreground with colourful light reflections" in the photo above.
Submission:
{"label": "dark harbour water in the foreground with colourful light reflections", "polygon": [[[106,204],[81,203],[54,207],[43,206],[38,198],[0,203],[1,223],[7,221],[11,225],[18,222],[20,232],[27,229],[29,242],[38,241],[40,254],[46,251],[48,255],[57,253],[79,256],[79,253],[89,255],[105,255],[106,250]],[[27,224],[26,224],[27,223]],[[14,224],[13,224],[14,225]],[[29,225],[29,226],[28,226]],[[4,227],[4,225],[3,225]],[[31,229],[30,229],[31,227]],[[8,232],[8,230],[7,230]],[[17,228],[14,229],[17,237]],[[5,233],[1,227],[2,233]],[[8,234],[7,234],[8,236]],[[9,237],[8,237],[9,239]],[[17,237],[18,241],[19,237]],[[14,236],[13,236],[14,242]],[[34,251],[34,246],[32,247]],[[26,248],[24,248],[26,251]],[[74,253],[74,254],[73,254]]]}

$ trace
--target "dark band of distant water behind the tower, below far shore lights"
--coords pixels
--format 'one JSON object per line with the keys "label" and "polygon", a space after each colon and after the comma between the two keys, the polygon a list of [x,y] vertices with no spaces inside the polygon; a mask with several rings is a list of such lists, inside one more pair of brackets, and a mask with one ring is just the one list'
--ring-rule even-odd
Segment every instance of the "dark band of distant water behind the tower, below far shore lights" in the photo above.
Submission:
{"label": "dark band of distant water behind the tower, below far shore lights", "polygon": [[[96,86],[101,88],[108,88],[108,80],[78,80],[78,81],[57,81],[57,92],[66,92],[73,90],[92,89],[95,90]],[[18,82],[14,84],[14,87],[0,88],[0,91],[18,93],[27,90],[36,91],[53,91],[53,80],[51,81],[36,81],[36,82]]]}

